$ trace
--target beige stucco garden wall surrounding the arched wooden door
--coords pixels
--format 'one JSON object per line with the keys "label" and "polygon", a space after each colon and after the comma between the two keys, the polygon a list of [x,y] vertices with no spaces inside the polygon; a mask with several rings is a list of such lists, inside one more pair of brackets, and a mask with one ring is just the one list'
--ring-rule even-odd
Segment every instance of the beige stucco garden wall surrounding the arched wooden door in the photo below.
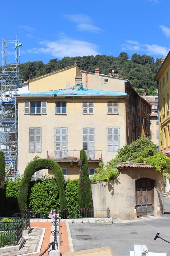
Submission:
{"label": "beige stucco garden wall surrounding the arched wooden door", "polygon": [[135,180],[150,178],[155,181],[155,215],[163,214],[163,178],[161,172],[148,169],[127,169],[109,182],[91,183],[94,208],[110,209],[112,218],[134,219],[136,196]]}

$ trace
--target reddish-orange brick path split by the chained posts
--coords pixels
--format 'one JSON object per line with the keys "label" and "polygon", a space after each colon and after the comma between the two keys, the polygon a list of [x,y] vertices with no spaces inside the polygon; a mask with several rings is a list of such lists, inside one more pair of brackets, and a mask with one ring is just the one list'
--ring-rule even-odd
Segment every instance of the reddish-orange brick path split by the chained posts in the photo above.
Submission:
{"label": "reddish-orange brick path split by the chained posts", "polygon": [[[44,239],[43,239],[43,244],[41,246],[41,251],[42,253],[50,243],[50,236],[51,236],[51,222],[31,222],[30,221],[30,226],[32,227],[43,227],[46,229],[45,234],[44,234]],[[68,243],[68,235],[67,235],[67,227],[65,222],[61,222],[60,226],[60,232],[62,234],[62,245],[60,246],[60,253],[63,254],[64,252],[70,252],[70,247]],[[38,254],[33,254],[33,256],[39,256],[40,253]],[[44,254],[44,256],[48,255],[48,251]]]}

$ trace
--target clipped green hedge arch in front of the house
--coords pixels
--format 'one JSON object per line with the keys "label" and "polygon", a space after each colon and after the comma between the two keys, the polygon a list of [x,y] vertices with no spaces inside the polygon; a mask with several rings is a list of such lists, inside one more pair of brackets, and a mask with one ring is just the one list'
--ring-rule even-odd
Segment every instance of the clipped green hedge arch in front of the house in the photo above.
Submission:
{"label": "clipped green hedge arch in front of the house", "polygon": [[25,213],[27,211],[28,187],[32,175],[42,169],[48,169],[54,172],[59,187],[60,209],[67,209],[66,194],[64,191],[65,182],[61,167],[53,160],[40,158],[31,161],[25,168],[18,195],[18,204],[21,213]]}

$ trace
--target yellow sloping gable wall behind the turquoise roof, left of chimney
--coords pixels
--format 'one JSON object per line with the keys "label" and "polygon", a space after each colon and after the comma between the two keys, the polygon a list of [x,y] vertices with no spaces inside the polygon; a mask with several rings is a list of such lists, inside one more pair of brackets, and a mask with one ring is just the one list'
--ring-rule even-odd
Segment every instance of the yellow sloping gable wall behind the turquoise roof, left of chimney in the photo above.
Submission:
{"label": "yellow sloping gable wall behind the turquoise roof, left of chimney", "polygon": [[75,85],[75,76],[81,76],[77,65],[60,69],[47,75],[29,81],[29,92],[49,91],[56,89],[66,89],[66,83]]}

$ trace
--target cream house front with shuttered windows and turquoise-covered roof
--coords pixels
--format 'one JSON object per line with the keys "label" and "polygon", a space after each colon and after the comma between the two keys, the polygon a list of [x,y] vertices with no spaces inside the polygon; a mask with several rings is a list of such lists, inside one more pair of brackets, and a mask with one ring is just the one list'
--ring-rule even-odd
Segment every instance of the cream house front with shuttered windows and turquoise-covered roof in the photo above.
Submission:
{"label": "cream house front with shuttered windows and turquoise-covered roof", "polygon": [[92,175],[126,144],[126,100],[126,93],[90,89],[21,94],[18,172],[38,155],[58,162],[65,178],[78,178],[83,148]]}

